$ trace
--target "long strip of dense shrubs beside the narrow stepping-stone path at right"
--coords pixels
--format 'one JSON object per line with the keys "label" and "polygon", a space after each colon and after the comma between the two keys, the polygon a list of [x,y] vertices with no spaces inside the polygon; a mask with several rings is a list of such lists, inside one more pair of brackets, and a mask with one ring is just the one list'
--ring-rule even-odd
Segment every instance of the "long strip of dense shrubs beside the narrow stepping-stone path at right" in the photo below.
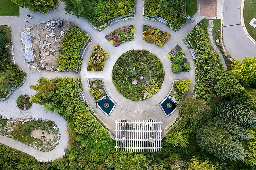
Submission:
{"label": "long strip of dense shrubs beside the narrow stepping-stone path at right", "polygon": [[213,93],[212,88],[215,84],[217,73],[220,71],[220,66],[218,65],[219,58],[212,48],[205,27],[192,30],[188,34],[188,40],[190,40],[194,47],[200,71],[195,82],[198,85],[195,85],[194,92],[199,98],[210,101],[210,94]]}

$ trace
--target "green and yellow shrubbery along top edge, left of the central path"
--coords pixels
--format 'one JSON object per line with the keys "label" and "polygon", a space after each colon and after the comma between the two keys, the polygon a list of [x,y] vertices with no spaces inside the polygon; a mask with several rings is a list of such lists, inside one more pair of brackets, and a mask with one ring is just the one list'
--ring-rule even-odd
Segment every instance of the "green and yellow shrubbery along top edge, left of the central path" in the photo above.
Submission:
{"label": "green and yellow shrubbery along top edge, left of the central path", "polygon": [[84,17],[96,27],[107,21],[123,16],[134,14],[135,0],[64,0],[65,11],[73,12],[77,17]]}

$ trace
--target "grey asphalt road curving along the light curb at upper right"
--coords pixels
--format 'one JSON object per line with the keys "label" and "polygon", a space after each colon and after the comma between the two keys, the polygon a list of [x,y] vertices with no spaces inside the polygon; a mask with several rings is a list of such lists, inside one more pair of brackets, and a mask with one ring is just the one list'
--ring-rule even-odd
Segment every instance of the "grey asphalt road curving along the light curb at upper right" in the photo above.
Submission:
{"label": "grey asphalt road curving along the light curb at upper right", "polygon": [[256,45],[248,39],[242,25],[239,24],[241,23],[240,6],[241,0],[224,0],[223,40],[231,57],[243,60],[245,56],[256,56]]}

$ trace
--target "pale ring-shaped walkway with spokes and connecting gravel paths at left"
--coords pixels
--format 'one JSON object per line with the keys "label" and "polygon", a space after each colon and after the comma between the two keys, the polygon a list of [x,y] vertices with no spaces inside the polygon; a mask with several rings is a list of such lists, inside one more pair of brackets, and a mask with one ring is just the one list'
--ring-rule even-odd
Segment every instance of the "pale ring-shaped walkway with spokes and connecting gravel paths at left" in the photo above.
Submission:
{"label": "pale ring-shaped walkway with spokes and connecting gravel paths at left", "polygon": [[[94,101],[92,99],[91,94],[89,93],[87,78],[103,78],[107,92],[109,93],[111,98],[118,104],[116,105],[115,110],[111,113],[110,117],[106,116],[98,108],[96,109],[96,113],[105,123],[108,124],[112,133],[115,129],[114,120],[117,118],[137,119],[137,120],[138,119],[147,120],[149,118],[161,119],[163,121],[163,127],[164,128],[167,127],[175,119],[178,113],[174,112],[172,115],[166,118],[157,103],[160,102],[162,99],[164,99],[168,95],[168,92],[171,88],[172,81],[174,79],[190,79],[191,86],[190,86],[190,90],[187,92],[187,95],[192,95],[192,91],[194,87],[194,63],[192,61],[191,53],[183,43],[182,38],[184,38],[193,29],[193,27],[198,22],[201,21],[202,17],[199,16],[199,11],[193,16],[196,22],[187,23],[183,27],[181,27],[179,31],[174,32],[168,27],[166,27],[165,24],[162,24],[160,22],[144,20],[143,19],[143,1],[138,0],[135,5],[135,9],[136,9],[135,19],[132,19],[129,21],[119,21],[118,23],[115,23],[105,28],[103,31],[99,32],[86,19],[77,18],[75,15],[66,14],[64,7],[65,7],[64,3],[59,2],[54,10],[49,11],[45,15],[42,15],[40,12],[32,12],[28,9],[20,8],[19,17],[0,17],[0,25],[8,25],[12,28],[12,42],[13,42],[13,48],[14,48],[15,62],[23,71],[27,73],[27,79],[24,85],[18,90],[16,90],[11,95],[10,98],[0,102],[0,108],[1,108],[0,114],[6,117],[22,117],[22,118],[41,117],[43,119],[52,120],[59,127],[60,134],[61,134],[60,143],[58,144],[58,146],[56,146],[55,149],[49,152],[42,152],[37,149],[31,148],[29,146],[25,146],[24,144],[18,141],[12,140],[6,136],[0,136],[0,143],[13,147],[15,149],[18,149],[22,152],[28,153],[42,160],[53,160],[62,156],[63,150],[67,147],[68,139],[69,139],[68,132],[67,132],[67,123],[64,120],[64,118],[60,117],[58,114],[47,113],[46,111],[44,111],[42,105],[32,104],[32,107],[28,111],[21,111],[15,105],[16,99],[18,98],[19,95],[35,94],[35,91],[31,90],[29,86],[37,84],[37,80],[40,77],[48,77],[48,78],[74,77],[75,78],[75,77],[81,76],[85,98],[87,101],[89,101],[91,106],[94,106]],[[34,16],[33,19],[28,19],[30,23],[23,21],[23,19],[26,18],[27,14]],[[74,21],[93,40],[91,45],[85,52],[81,73],[79,74],[75,72],[46,72],[44,70],[42,70],[41,72],[38,72],[32,67],[26,66],[27,63],[24,62],[24,58],[23,58],[24,50],[22,47],[22,42],[20,40],[20,33],[22,32],[22,30],[24,30],[27,27],[31,27],[35,24],[41,23],[43,21],[48,21],[52,19],[62,19],[62,18]],[[111,43],[108,42],[108,40],[105,38],[105,35],[107,35],[111,31],[119,27],[129,25],[129,24],[135,25],[135,40],[123,43],[119,47],[115,48]],[[144,40],[142,40],[143,24],[147,24],[153,27],[157,27],[160,30],[167,31],[168,33],[171,34],[172,37],[161,48],[156,46],[155,44],[146,43]],[[104,70],[102,72],[87,72],[88,57],[91,55],[91,50],[93,48],[93,45],[95,44],[99,44],[104,50],[106,50],[110,54],[110,57],[107,59]],[[171,72],[171,63],[170,63],[170,60],[168,59],[167,53],[177,44],[179,44],[182,47],[191,65],[191,70],[189,72],[179,73],[179,74],[174,74]],[[112,66],[115,64],[116,59],[122,53],[130,49],[149,50],[151,53],[154,53],[156,56],[159,57],[165,69],[165,81],[163,83],[161,90],[158,92],[159,95],[157,93],[156,97],[148,100],[149,102],[148,104],[141,101],[142,106],[135,103],[133,105],[126,106],[123,101],[127,101],[127,99],[123,98],[116,91],[111,81]],[[157,98],[157,96],[159,98]],[[143,112],[136,112],[136,111],[143,111]]]}

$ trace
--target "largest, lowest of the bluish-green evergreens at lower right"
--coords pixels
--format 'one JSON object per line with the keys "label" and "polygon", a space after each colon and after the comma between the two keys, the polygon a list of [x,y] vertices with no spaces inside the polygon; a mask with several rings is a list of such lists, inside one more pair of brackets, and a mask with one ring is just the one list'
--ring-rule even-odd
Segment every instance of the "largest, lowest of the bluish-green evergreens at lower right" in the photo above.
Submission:
{"label": "largest, lowest of the bluish-green evergreens at lower right", "polygon": [[226,161],[242,160],[245,157],[242,144],[234,136],[215,126],[213,120],[197,130],[197,141],[202,150]]}

